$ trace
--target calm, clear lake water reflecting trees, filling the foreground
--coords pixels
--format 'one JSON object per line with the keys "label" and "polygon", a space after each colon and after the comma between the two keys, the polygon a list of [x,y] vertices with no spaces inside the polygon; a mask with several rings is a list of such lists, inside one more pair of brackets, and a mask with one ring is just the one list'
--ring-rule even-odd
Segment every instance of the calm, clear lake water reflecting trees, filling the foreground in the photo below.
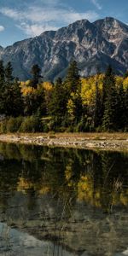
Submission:
{"label": "calm, clear lake water reflecting trees, filling the foreground", "polygon": [[128,255],[128,154],[0,143],[0,255]]}

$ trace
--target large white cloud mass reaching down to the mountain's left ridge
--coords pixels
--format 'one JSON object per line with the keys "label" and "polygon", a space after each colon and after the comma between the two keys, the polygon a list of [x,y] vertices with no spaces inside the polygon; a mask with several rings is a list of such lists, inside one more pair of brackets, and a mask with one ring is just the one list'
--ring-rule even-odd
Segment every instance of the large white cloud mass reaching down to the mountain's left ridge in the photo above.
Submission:
{"label": "large white cloud mass reaching down to the mountain's left ridge", "polygon": [[[44,3],[46,0],[42,0]],[[87,19],[90,21],[96,20],[98,15],[95,11],[77,12],[71,8],[62,8],[58,5],[55,7],[59,0],[47,0],[48,3],[53,5],[38,7],[27,7],[24,10],[2,8],[0,13],[7,17],[16,20],[16,26],[24,31],[29,36],[38,36],[41,32],[46,30],[57,30],[60,27],[60,20],[63,26],[73,23],[76,20]]]}

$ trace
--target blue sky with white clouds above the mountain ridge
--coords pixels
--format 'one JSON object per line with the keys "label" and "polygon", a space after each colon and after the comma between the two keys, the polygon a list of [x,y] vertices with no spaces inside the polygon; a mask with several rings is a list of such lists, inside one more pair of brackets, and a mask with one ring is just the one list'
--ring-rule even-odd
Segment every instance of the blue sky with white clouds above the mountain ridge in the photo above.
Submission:
{"label": "blue sky with white clouds above the mountain ridge", "polygon": [[128,0],[0,0],[0,45],[6,47],[76,20],[114,17],[128,24]]}

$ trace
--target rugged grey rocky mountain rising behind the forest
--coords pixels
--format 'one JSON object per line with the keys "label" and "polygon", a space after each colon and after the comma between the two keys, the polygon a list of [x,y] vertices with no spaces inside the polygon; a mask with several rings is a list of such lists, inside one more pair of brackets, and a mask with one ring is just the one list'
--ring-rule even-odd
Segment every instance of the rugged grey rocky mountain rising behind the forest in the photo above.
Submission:
{"label": "rugged grey rocky mountain rising behind the forest", "polygon": [[123,74],[128,69],[128,26],[111,17],[93,23],[78,20],[58,31],[0,46],[0,59],[11,61],[14,75],[22,80],[30,78],[33,64],[42,68],[44,79],[63,77],[73,59],[82,76],[96,73],[97,67],[104,72],[108,64]]}

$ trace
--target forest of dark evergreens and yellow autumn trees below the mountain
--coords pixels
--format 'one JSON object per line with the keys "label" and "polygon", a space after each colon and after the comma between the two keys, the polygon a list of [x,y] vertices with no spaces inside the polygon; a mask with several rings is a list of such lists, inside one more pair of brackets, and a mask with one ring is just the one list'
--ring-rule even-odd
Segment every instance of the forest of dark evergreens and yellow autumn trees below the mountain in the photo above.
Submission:
{"label": "forest of dark evergreens and yellow autumn trees below the mountain", "polygon": [[0,61],[0,132],[128,131],[128,72],[81,78],[71,61],[64,79],[44,81],[35,64],[32,79],[13,76]]}

